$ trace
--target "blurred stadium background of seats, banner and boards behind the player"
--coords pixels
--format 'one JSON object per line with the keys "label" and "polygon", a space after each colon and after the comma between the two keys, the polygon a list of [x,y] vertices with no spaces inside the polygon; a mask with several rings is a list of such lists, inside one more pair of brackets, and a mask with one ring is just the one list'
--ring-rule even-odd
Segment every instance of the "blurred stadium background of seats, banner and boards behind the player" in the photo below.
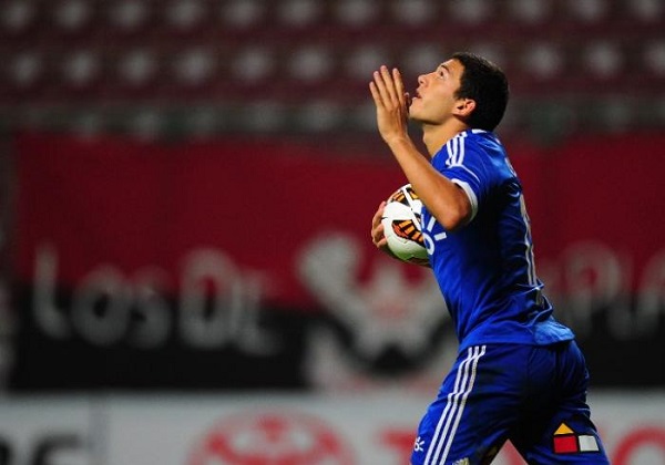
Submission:
{"label": "blurred stadium background of seats, banner and boards behind the player", "polygon": [[3,0],[0,465],[408,463],[457,341],[369,241],[368,82],[462,50],[612,463],[665,463],[664,0]]}

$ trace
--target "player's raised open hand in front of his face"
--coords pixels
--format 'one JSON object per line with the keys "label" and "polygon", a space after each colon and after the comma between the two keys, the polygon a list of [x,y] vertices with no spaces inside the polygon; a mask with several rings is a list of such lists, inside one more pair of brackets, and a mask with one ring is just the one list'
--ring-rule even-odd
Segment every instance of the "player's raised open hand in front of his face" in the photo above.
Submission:
{"label": "player's raised open hand in front of his face", "polygon": [[374,73],[369,90],[377,107],[377,125],[386,143],[408,136],[410,97],[397,68],[382,65]]}

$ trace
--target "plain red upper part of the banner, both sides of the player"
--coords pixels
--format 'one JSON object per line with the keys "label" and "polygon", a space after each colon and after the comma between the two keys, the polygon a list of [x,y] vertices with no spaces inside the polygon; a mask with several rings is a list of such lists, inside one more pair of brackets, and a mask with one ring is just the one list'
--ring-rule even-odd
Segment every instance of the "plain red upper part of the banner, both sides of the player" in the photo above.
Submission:
{"label": "plain red upper part of the banner, both sides of the player", "polygon": [[[325,147],[285,143],[57,135],[24,135],[16,147],[17,271],[24,280],[33,279],[40,247],[50,246],[62,283],[112,264],[126,273],[158,267],[173,291],[187,255],[212,248],[269,282],[268,300],[295,307],[310,302],[294,271],[304,245],[344,231],[371,260],[371,215],[403,183],[388,152],[339,159]],[[626,286],[637,290],[644,268],[665,250],[665,136],[509,148],[538,258],[546,264],[571,245],[602,244],[630,260]],[[559,286],[565,277],[554,278]]]}

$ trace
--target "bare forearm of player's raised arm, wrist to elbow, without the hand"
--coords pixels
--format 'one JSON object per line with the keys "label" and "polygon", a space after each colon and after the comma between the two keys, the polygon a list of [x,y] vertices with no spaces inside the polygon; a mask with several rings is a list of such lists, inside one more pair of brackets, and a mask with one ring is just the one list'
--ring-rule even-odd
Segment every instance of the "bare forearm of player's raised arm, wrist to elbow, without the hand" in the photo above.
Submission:
{"label": "bare forearm of player's raised arm, wrist to elbow, without the hand", "polygon": [[464,225],[471,217],[471,204],[454,183],[437,172],[410,138],[388,142],[395,158],[428,210],[447,230]]}

